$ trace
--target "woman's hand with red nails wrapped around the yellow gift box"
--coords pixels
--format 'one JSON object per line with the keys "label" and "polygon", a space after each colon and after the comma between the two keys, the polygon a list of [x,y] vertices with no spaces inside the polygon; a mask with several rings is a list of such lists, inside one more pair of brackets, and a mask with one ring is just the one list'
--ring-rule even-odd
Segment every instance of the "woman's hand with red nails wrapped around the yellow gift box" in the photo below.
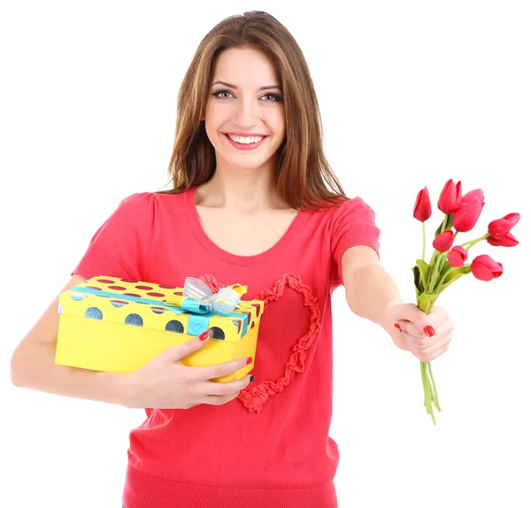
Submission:
{"label": "woman's hand with red nails wrapped around the yellow gift box", "polygon": [[145,366],[127,373],[121,378],[126,392],[124,405],[140,409],[189,409],[198,404],[227,404],[235,399],[252,381],[250,375],[236,381],[210,380],[249,365],[247,358],[202,367],[185,366],[180,361],[200,350],[210,337],[207,331],[186,343],[167,348]]}

